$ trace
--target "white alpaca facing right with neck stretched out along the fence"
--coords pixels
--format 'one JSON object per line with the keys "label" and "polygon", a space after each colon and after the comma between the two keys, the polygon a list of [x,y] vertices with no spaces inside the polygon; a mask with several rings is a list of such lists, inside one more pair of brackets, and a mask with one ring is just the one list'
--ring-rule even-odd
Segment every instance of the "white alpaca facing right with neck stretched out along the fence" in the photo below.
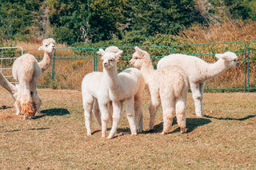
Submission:
{"label": "white alpaca facing right with neck stretched out along the fence", "polygon": [[204,116],[202,112],[202,98],[205,82],[211,78],[217,77],[227,69],[238,66],[237,55],[230,51],[218,53],[215,57],[218,57],[218,61],[215,63],[207,63],[199,57],[175,53],[163,57],[158,61],[158,68],[177,65],[185,71],[186,77],[188,77],[190,81],[195,113],[198,117]]}

